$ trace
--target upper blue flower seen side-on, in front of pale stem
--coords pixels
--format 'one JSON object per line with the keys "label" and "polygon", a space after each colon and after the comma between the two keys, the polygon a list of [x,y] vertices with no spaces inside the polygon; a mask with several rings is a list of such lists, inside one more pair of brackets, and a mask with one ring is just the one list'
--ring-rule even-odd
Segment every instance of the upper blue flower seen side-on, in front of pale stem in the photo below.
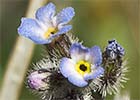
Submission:
{"label": "upper blue flower seen side-on, in front of pale stem", "polygon": [[55,5],[49,3],[37,10],[35,19],[22,18],[18,33],[37,44],[49,44],[55,37],[72,29],[66,24],[74,15],[74,9],[67,7],[55,16]]}

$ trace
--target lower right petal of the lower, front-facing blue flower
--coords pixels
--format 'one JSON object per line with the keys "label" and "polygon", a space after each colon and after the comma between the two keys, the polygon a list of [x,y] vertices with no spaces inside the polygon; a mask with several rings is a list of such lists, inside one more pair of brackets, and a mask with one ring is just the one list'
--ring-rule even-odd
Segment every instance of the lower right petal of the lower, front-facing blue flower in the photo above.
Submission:
{"label": "lower right petal of the lower, front-facing blue flower", "polygon": [[90,74],[85,74],[84,79],[85,80],[95,79],[95,78],[99,77],[100,75],[102,75],[103,73],[104,73],[103,67],[99,66],[99,67],[96,67],[95,69],[93,69],[93,71]]}

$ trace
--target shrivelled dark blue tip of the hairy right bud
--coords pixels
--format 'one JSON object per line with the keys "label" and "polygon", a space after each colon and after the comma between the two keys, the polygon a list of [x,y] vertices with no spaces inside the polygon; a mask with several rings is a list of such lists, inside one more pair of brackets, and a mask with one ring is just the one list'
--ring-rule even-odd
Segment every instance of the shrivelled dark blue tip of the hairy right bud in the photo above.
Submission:
{"label": "shrivelled dark blue tip of the hairy right bud", "polygon": [[124,48],[116,40],[108,41],[106,52],[111,59],[116,59],[118,56],[122,57],[125,54]]}

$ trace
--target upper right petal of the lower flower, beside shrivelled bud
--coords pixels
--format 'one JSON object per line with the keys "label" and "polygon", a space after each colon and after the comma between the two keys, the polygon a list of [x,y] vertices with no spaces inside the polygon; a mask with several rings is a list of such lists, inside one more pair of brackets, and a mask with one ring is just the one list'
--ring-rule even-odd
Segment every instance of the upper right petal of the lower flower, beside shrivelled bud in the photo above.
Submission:
{"label": "upper right petal of the lower flower, beside shrivelled bud", "polygon": [[94,46],[90,49],[91,56],[93,57],[92,63],[97,66],[102,63],[102,52],[100,47]]}

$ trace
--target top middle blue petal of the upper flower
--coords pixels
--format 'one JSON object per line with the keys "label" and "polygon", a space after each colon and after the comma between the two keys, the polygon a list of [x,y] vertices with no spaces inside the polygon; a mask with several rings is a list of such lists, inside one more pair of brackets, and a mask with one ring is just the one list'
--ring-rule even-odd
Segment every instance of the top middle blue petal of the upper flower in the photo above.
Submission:
{"label": "top middle blue petal of the upper flower", "polygon": [[55,5],[49,3],[44,7],[41,7],[36,12],[36,18],[44,23],[50,22],[55,15]]}

